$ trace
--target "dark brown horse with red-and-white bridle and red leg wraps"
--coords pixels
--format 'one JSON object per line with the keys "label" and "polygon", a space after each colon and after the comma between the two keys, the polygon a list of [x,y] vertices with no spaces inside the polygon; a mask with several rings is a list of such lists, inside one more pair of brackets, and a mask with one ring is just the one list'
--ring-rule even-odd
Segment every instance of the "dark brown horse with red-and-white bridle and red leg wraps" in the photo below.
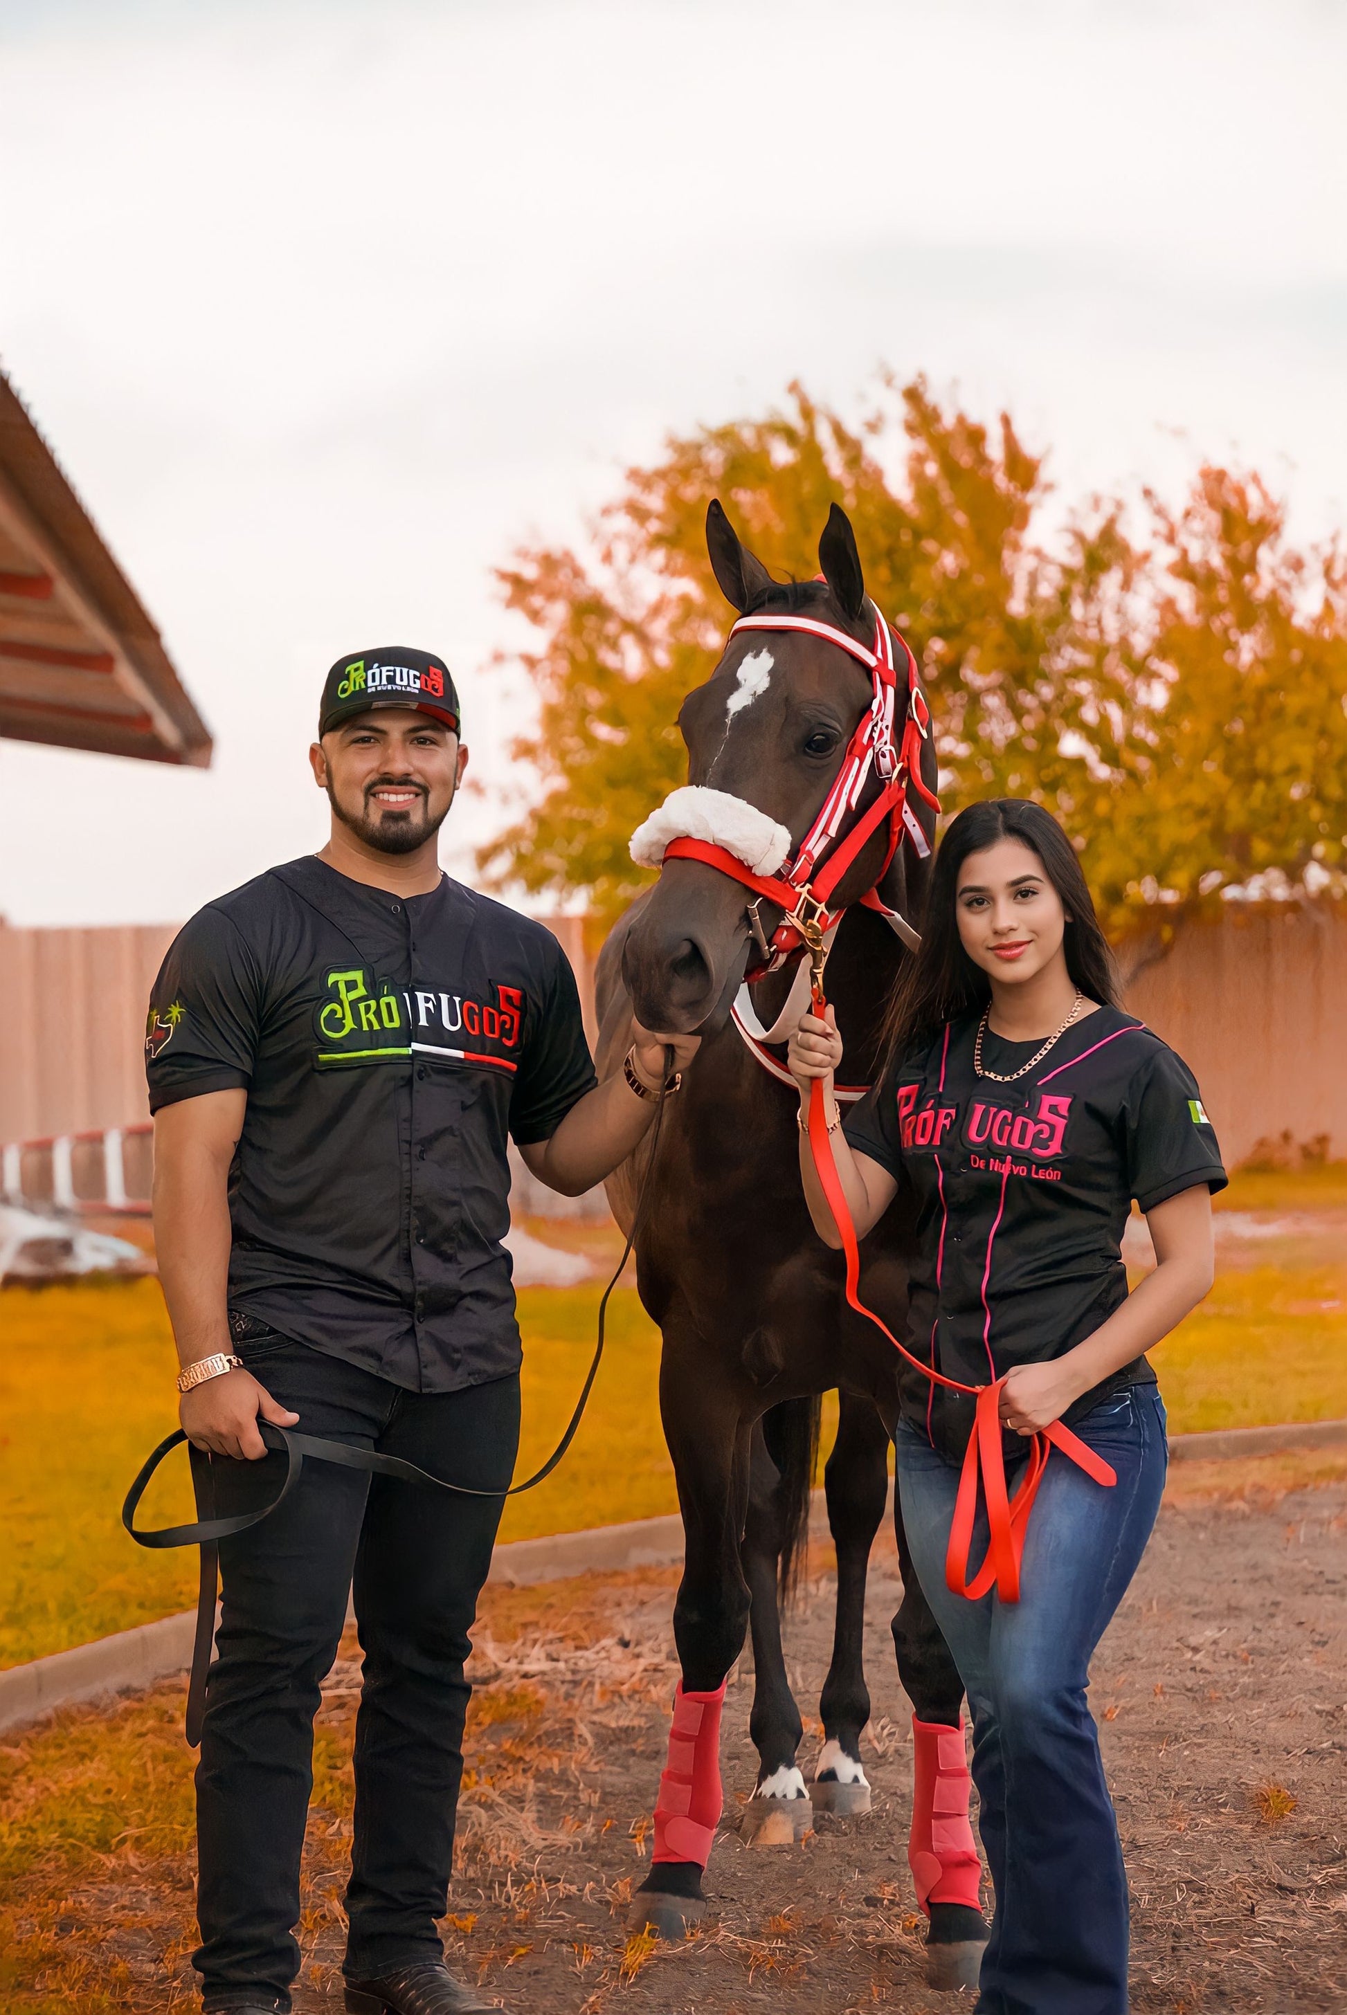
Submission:
{"label": "dark brown horse with red-and-white bridle and red leg wraps", "polygon": [[[718,502],[706,540],[738,621],[680,711],[690,784],[633,838],[637,858],[663,862],[659,881],[619,919],[597,965],[601,1074],[621,1068],[633,1018],[702,1036],[682,1088],[665,1090],[653,1157],[647,1136],[607,1185],[627,1231],[645,1185],[637,1290],[661,1330],[659,1406],[686,1535],[669,1767],[651,1870],[629,1916],[631,1928],[663,1936],[684,1936],[706,1912],[702,1878],[722,1809],[720,1701],[748,1626],[758,1779],[746,1838],[784,1844],[809,1830],[813,1809],[869,1807],[863,1610],[887,1503],[895,1354],[847,1308],[841,1255],[809,1221],[799,1104],[774,1046],[827,955],[847,1072],[877,1074],[883,1005],[917,943],[909,919],[922,913],[936,818],[915,661],[865,594],[845,512],[829,514],[811,582],[776,582]],[[780,866],[784,854],[792,866]],[[754,860],[758,870],[774,862],[792,887],[780,872],[754,872]],[[827,903],[817,899],[825,885]],[[899,1203],[863,1247],[867,1296],[891,1322],[905,1312],[909,1239]],[[821,1394],[831,1388],[839,1431],[825,1497],[837,1620],[811,1797],[780,1602],[807,1541]],[[976,1985],[988,1936],[968,1824],[964,1689],[911,1572],[897,1503],[895,1529],[903,1600],[893,1642],[915,1709],[909,1862],[928,1914],[928,1979],[954,1989]]]}

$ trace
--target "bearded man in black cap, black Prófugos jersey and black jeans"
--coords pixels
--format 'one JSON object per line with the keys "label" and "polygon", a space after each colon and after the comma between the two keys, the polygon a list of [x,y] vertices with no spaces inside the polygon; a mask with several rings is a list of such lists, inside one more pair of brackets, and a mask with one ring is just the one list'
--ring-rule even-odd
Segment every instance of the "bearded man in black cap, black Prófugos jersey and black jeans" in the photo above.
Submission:
{"label": "bearded man in black cap, black Pr\u00f3fugos jersey and black jeans", "polygon": [[[327,846],[186,925],[145,1038],[179,1413],[210,1451],[216,1513],[276,1495],[284,1459],[258,1421],[504,1491],[520,1364],[506,1134],[577,1195],[649,1126],[665,1040],[680,1064],[696,1050],[639,1032],[595,1086],[557,939],[440,872],[468,750],[438,657],[341,659],[311,762]],[[351,1586],[365,1668],[347,2009],[486,2007],[444,1967],[436,1918],[500,1511],[500,1495],[307,1461],[270,1517],[222,1543],[196,1779],[206,2009],[290,2007],[313,1717]]]}

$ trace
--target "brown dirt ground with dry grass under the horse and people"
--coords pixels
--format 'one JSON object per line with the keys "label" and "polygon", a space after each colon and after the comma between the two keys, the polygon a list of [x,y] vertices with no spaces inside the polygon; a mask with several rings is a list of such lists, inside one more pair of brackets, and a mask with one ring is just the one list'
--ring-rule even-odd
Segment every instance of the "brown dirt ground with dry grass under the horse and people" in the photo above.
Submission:
{"label": "brown dirt ground with dry grass under the horse and people", "polygon": [[[1093,1685],[1131,1870],[1133,2007],[1347,2009],[1347,1485],[1232,1495],[1220,1473],[1196,1467],[1176,1485]],[[827,1554],[811,1570],[788,1638],[805,1709],[817,1701],[831,1638]],[[520,2015],[934,2015],[966,2005],[922,1983],[905,1868],[909,1711],[887,1636],[899,1596],[891,1541],[875,1554],[869,1600],[875,1809],[861,1820],[821,1816],[797,1848],[742,1846],[752,1751],[750,1674],[740,1672],[726,1705],[728,1809],[710,1870],[712,1916],[678,1946],[625,1932],[621,1906],[647,1868],[673,1687],[673,1580],[647,1572],[490,1592],[446,1922],[454,1963]],[[304,2015],[341,2007],[357,1685],[355,1660],[343,1658],[323,1709],[296,1995]],[[111,1721],[149,1755],[149,1735],[137,1731],[153,1721],[167,1737],[177,1713],[179,1689],[159,1689],[123,1703]],[[34,1731],[28,1775],[50,1771],[42,1741],[97,1741],[97,1729],[89,1713],[63,1717],[48,1737]],[[107,1719],[103,1729],[107,1741]],[[811,1729],[807,1765],[817,1723]],[[181,1777],[186,1822],[188,1757],[165,1753]],[[89,1997],[77,1975],[52,1995],[54,1975],[10,1973],[6,2015],[188,2007],[183,1840],[173,1852],[153,1852],[149,1840],[117,1844],[91,1880],[46,1894],[26,1886],[20,1918],[34,1930],[50,1920],[67,1957],[79,1949]]]}

